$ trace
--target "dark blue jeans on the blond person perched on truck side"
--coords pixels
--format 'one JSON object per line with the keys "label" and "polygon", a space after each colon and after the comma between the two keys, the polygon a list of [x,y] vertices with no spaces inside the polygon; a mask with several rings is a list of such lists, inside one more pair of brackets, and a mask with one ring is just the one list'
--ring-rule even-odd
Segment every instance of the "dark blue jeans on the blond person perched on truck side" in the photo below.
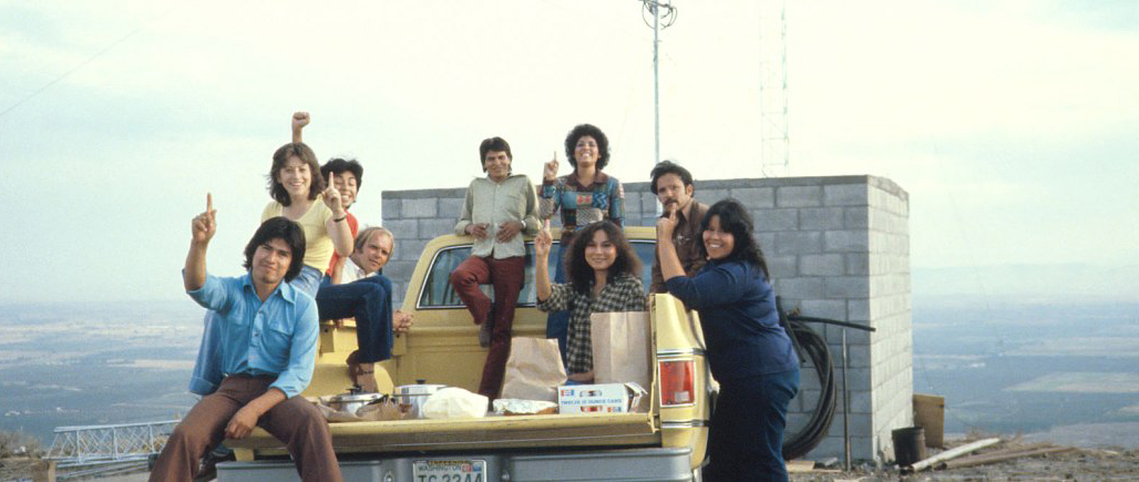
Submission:
{"label": "dark blue jeans on the blond person perched on truck side", "polygon": [[392,281],[383,275],[346,285],[323,285],[317,292],[320,319],[355,318],[361,363],[392,358]]}

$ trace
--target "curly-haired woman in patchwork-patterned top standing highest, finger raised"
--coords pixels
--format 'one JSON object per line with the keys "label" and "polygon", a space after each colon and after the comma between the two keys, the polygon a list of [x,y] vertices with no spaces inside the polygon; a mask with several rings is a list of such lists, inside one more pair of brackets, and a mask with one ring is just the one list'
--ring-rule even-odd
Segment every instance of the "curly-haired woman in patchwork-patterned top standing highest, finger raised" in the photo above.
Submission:
{"label": "curly-haired woman in patchwork-patterned top standing highest, finger raised", "polygon": [[[562,261],[577,227],[607,219],[620,228],[625,218],[625,193],[621,181],[601,172],[609,163],[609,139],[605,132],[591,124],[580,124],[566,136],[565,149],[573,172],[558,177],[555,154],[542,170],[542,189],[538,194],[538,215],[541,219],[548,220],[562,213],[562,243],[554,275],[556,283],[566,280]],[[546,320],[546,336],[558,338],[563,359],[566,357],[568,319],[565,311],[556,311]]]}

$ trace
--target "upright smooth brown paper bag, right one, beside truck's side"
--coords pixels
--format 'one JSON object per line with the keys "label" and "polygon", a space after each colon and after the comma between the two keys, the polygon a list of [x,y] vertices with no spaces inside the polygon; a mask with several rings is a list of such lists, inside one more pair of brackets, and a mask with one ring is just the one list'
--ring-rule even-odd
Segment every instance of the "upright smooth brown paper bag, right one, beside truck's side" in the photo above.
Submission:
{"label": "upright smooth brown paper bag, right one, beside truck's side", "polygon": [[636,382],[645,389],[653,386],[648,311],[593,313],[590,332],[593,383]]}

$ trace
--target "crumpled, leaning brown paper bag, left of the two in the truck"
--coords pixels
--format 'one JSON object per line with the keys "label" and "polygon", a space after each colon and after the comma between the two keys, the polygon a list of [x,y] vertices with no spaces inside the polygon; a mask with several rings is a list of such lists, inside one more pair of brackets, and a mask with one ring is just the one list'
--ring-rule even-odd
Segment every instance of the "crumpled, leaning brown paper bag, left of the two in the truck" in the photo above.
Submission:
{"label": "crumpled, leaning brown paper bag, left of the two in the truck", "polygon": [[558,401],[558,385],[566,381],[558,341],[516,336],[502,378],[503,399]]}

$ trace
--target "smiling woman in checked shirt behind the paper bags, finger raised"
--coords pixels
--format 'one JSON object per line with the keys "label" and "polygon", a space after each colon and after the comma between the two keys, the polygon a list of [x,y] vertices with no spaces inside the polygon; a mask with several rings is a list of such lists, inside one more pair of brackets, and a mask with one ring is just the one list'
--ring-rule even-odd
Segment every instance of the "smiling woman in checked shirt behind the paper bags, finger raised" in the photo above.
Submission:
{"label": "smiling woman in checked shirt behind the paper bags, finger raised", "polygon": [[570,311],[566,373],[571,384],[593,382],[593,344],[589,316],[612,311],[645,310],[645,285],[640,259],[625,240],[621,228],[597,221],[574,237],[566,256],[567,284],[551,284],[549,272],[549,221],[534,238],[534,279],[538,309]]}

